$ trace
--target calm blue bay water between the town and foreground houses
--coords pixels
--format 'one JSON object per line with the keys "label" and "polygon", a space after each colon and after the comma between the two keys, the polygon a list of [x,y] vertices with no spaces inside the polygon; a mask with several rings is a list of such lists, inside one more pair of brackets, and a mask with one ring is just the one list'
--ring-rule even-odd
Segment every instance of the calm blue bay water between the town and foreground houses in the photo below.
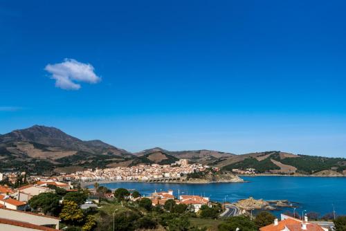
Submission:
{"label": "calm blue bay water between the town and foreground houses", "polygon": [[[107,183],[104,186],[110,189],[125,187],[136,189],[141,194],[149,195],[154,190],[174,190],[181,194],[196,194],[210,196],[212,201],[235,202],[242,198],[264,200],[286,199],[299,203],[296,212],[318,212],[321,215],[333,211],[336,214],[346,214],[346,178],[338,177],[289,177],[289,176],[243,176],[249,183],[210,183],[210,184],[178,184],[178,183]],[[93,187],[93,186],[91,186]],[[293,212],[292,208],[284,211]],[[279,212],[280,213],[280,212]],[[275,214],[278,214],[275,212]]]}

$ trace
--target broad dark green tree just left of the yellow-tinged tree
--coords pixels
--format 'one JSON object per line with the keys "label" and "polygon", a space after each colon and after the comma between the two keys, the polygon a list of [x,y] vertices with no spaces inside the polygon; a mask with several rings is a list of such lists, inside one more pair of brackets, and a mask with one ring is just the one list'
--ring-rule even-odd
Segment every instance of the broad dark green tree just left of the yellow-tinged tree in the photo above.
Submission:
{"label": "broad dark green tree just left of the yellow-tinged tree", "polygon": [[41,210],[44,214],[56,215],[59,213],[59,200],[60,197],[57,194],[44,192],[33,196],[28,203],[34,210]]}

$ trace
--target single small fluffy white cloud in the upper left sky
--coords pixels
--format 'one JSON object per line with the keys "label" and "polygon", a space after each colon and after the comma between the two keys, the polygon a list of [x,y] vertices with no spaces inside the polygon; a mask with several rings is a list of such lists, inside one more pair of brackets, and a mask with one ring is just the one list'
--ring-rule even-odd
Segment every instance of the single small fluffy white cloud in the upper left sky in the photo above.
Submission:
{"label": "single small fluffy white cloud in the upper left sky", "polygon": [[51,73],[51,78],[55,80],[55,86],[65,90],[78,90],[78,82],[95,84],[101,78],[95,74],[91,64],[84,64],[75,59],[64,59],[59,64],[48,64],[44,70]]}

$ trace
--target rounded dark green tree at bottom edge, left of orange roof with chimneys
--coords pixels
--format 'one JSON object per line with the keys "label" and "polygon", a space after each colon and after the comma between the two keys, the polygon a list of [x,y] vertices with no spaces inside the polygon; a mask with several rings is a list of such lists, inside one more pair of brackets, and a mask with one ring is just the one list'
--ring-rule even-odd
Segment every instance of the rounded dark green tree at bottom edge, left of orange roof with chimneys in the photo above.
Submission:
{"label": "rounded dark green tree at bottom edge, left of orange roof with chimneys", "polygon": [[257,227],[253,221],[246,216],[232,216],[226,222],[219,224],[219,231],[239,230],[256,231]]}

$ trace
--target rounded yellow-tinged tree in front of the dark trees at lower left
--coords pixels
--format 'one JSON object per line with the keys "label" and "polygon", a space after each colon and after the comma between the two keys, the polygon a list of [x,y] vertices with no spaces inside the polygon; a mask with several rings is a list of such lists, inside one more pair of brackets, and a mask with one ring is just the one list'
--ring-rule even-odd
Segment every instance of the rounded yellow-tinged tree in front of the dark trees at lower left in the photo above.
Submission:
{"label": "rounded yellow-tinged tree in front of the dark trees at lower left", "polygon": [[83,221],[84,214],[77,203],[73,201],[64,201],[62,212],[60,212],[60,219],[65,223],[75,225]]}

